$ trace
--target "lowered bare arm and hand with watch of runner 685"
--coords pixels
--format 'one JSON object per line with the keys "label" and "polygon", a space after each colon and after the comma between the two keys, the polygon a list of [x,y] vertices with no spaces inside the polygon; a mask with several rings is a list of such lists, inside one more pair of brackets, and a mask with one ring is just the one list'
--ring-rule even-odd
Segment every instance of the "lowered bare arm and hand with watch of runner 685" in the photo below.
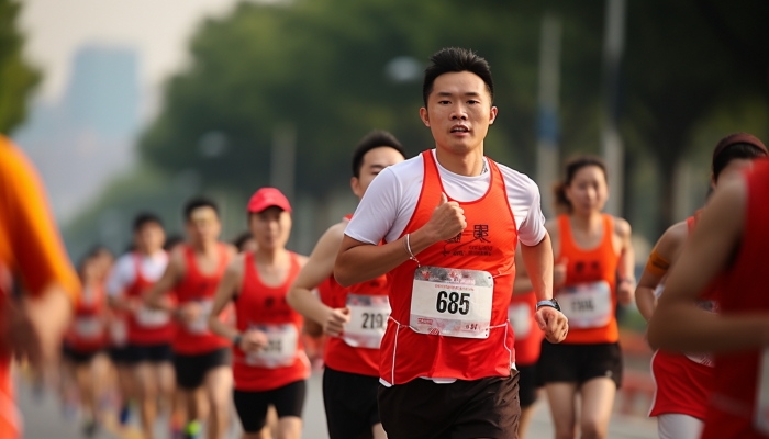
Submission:
{"label": "lowered bare arm and hand with watch of runner 685", "polygon": [[[545,233],[545,237],[535,246],[526,246],[521,243],[521,256],[537,301],[553,299],[553,245],[550,236]],[[534,318],[550,342],[561,342],[569,331],[566,316],[550,306],[540,306]]]}

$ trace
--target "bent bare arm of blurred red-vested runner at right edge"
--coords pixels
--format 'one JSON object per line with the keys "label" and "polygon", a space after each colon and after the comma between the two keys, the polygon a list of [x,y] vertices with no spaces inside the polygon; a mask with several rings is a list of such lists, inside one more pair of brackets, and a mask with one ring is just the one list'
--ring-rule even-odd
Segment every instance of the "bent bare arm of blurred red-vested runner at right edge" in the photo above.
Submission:
{"label": "bent bare arm of blurred red-vested runner at right edge", "polygon": [[[718,315],[698,307],[707,285],[731,263],[743,239],[747,188],[724,182],[711,199],[665,285],[649,322],[654,346],[675,351],[737,351],[769,345],[769,315]],[[729,292],[740,294],[740,292]]]}

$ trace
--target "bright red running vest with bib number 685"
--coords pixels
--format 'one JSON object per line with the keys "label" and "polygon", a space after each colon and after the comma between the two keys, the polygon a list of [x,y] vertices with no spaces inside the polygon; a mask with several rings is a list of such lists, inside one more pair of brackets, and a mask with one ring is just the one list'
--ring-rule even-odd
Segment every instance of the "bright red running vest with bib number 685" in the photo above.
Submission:
{"label": "bright red running vest with bib number 685", "polygon": [[[441,201],[441,194],[445,193],[432,153],[425,151],[422,156],[422,192],[401,236],[427,223]],[[380,378],[390,384],[408,383],[420,376],[478,380],[510,375],[515,356],[508,307],[515,279],[514,258],[519,235],[502,173],[497,164],[491,159],[488,161],[491,172],[489,190],[473,202],[459,202],[465,211],[467,228],[456,237],[436,243],[416,255],[421,267],[409,260],[390,272],[392,314],[382,339],[379,368]],[[431,270],[428,267],[439,269]],[[468,273],[466,270],[488,274]],[[480,292],[480,285],[489,274],[493,288],[487,294]],[[436,280],[434,275],[446,280]],[[437,294],[437,301],[420,305],[419,314],[414,314],[412,322],[412,299],[425,297],[426,294],[423,288],[427,286],[423,286],[425,282],[422,279],[433,282],[428,288],[432,294]],[[469,283],[462,285],[462,282]],[[414,294],[415,286],[417,294]],[[437,292],[443,286],[446,291]],[[465,291],[471,291],[470,302],[464,302]],[[483,311],[483,318],[488,320],[469,327],[464,323],[454,326],[454,330],[469,335],[477,328],[483,330],[488,324],[487,338],[442,335],[448,328],[443,326],[444,319],[460,318],[460,313],[478,315],[479,308],[487,309],[487,300],[490,301],[490,311],[488,314]],[[419,316],[426,313],[441,314],[441,317]],[[413,329],[415,324],[422,325],[421,330],[427,334],[416,333]]]}

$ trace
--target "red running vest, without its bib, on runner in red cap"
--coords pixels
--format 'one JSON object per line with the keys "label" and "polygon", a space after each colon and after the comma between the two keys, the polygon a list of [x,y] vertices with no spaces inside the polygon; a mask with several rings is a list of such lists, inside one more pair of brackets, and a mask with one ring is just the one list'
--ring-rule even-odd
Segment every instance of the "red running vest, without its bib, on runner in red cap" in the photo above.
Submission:
{"label": "red running vest, without its bib, on runner in red cap", "polygon": [[310,360],[304,353],[301,338],[304,320],[301,314],[293,311],[286,302],[286,294],[301,269],[299,261],[297,261],[297,255],[290,255],[291,268],[282,285],[268,286],[261,282],[254,261],[254,254],[245,254],[243,285],[241,294],[235,301],[237,329],[244,333],[249,327],[264,330],[266,325],[288,324],[293,326],[293,330],[296,330],[297,345],[296,354],[290,364],[277,367],[249,364],[241,348],[233,347],[233,376],[235,378],[235,389],[238,391],[265,392],[296,381],[307,380],[310,376]]}

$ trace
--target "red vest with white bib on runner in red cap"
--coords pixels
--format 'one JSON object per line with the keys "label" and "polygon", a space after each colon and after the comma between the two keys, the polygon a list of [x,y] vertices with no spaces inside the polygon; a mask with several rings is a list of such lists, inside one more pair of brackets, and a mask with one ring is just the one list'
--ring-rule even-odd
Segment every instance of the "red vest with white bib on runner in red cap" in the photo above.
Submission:
{"label": "red vest with white bib on runner in red cap", "polygon": [[241,333],[248,328],[263,330],[270,345],[257,354],[246,354],[233,347],[233,375],[238,391],[265,392],[310,376],[310,360],[301,338],[304,320],[286,302],[286,294],[300,269],[297,255],[291,254],[291,268],[283,283],[265,285],[254,254],[245,254],[243,285],[235,301],[237,329]]}

